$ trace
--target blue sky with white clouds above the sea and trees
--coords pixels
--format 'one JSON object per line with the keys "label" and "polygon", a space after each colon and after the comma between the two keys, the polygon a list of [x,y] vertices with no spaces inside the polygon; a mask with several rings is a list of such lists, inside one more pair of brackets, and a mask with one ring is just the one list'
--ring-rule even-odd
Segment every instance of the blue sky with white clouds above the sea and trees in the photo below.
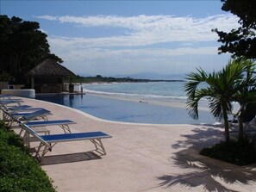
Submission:
{"label": "blue sky with white clouds above the sea and trees", "polygon": [[51,53],[81,76],[219,71],[231,55],[218,54],[222,44],[211,30],[239,26],[235,15],[222,11],[221,0],[0,3],[1,15],[39,22]]}

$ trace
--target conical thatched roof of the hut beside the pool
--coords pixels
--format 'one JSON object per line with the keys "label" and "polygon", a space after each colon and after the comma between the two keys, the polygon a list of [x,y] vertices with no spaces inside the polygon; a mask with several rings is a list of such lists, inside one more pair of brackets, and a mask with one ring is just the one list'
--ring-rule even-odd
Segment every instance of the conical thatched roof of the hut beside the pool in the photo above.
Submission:
{"label": "conical thatched roof of the hut beside the pool", "polygon": [[72,75],[75,74],[53,59],[41,62],[26,74],[27,77],[68,77]]}

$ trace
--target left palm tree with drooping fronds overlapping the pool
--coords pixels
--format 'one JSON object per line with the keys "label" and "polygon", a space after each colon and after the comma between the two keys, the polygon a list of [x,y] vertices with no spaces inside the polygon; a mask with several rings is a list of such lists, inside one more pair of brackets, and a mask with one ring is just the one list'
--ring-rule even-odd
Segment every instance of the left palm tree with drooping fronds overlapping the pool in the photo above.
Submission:
{"label": "left palm tree with drooping fronds overlapping the pool", "polygon": [[[187,75],[188,82],[185,84],[187,92],[187,109],[189,115],[198,119],[198,102],[205,97],[209,100],[210,112],[218,120],[223,120],[225,127],[225,139],[229,141],[228,114],[232,113],[232,102],[237,93],[242,91],[245,85],[245,73],[248,65],[246,59],[233,59],[228,62],[222,71],[207,74],[201,68],[197,72]],[[204,88],[199,88],[199,84],[206,84]]]}

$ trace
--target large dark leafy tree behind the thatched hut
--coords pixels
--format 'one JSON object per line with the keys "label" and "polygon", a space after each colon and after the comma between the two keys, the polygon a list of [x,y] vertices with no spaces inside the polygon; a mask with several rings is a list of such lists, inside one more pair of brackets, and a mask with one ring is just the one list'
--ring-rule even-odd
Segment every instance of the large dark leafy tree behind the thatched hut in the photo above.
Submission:
{"label": "large dark leafy tree behind the thatched hut", "polygon": [[47,34],[38,22],[0,15],[0,73],[19,77],[48,58],[62,62],[50,53]]}

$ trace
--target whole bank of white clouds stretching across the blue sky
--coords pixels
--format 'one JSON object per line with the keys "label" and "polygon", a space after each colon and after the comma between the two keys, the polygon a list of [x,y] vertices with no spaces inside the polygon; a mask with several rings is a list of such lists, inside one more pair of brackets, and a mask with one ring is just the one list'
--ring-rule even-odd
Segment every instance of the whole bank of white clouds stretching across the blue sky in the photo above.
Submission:
{"label": "whole bank of white clouds stretching across the blue sky", "polygon": [[[105,35],[97,38],[49,35],[48,41],[53,53],[66,62],[72,63],[71,69],[73,71],[79,71],[82,63],[84,65],[89,65],[89,63],[90,65],[100,65],[108,68],[108,71],[110,71],[109,67],[113,67],[113,71],[116,71],[118,66],[122,71],[122,69],[127,68],[124,65],[134,64],[137,65],[134,70],[140,68],[139,65],[147,67],[149,64],[152,69],[155,69],[153,63],[156,62],[161,62],[161,64],[165,64],[166,69],[170,69],[170,61],[175,62],[176,65],[182,63],[185,68],[185,62],[198,63],[200,57],[203,61],[212,63],[209,66],[213,67],[215,60],[207,61],[207,58],[209,56],[212,59],[213,55],[218,57],[217,46],[212,45],[218,37],[211,30],[218,28],[219,30],[230,31],[232,28],[238,28],[238,18],[229,14],[197,19],[191,16],[176,17],[172,15],[130,17],[117,15],[41,15],[38,18],[56,21],[60,24],[70,23],[73,24],[72,28],[80,25],[83,28],[122,28],[125,31],[126,34],[123,35]],[[203,42],[203,46],[199,45],[200,42]],[[157,47],[160,43],[170,46]],[[172,46],[174,44],[178,46]],[[193,46],[194,44],[197,46]],[[184,62],[184,57],[189,59],[185,59]],[[76,62],[79,64],[74,65]],[[191,69],[193,66],[187,68]],[[95,70],[98,70],[98,67]],[[162,69],[162,71],[165,70]]]}

